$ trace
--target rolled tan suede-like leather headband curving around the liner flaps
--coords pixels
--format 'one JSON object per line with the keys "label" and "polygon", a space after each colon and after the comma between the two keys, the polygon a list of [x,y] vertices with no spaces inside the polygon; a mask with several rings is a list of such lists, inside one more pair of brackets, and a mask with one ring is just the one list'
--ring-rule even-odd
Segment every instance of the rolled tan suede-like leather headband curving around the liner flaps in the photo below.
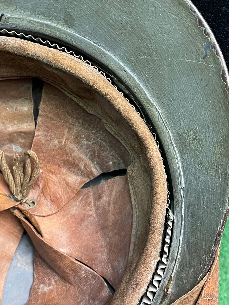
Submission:
{"label": "rolled tan suede-like leather headband curving around the liner flaps", "polygon": [[130,153],[127,175],[133,203],[132,240],[128,266],[112,305],[137,304],[158,261],[167,203],[165,171],[154,138],[102,75],[70,55],[1,37],[0,62],[4,62],[4,69],[0,65],[2,78],[39,77],[53,84],[99,117]]}

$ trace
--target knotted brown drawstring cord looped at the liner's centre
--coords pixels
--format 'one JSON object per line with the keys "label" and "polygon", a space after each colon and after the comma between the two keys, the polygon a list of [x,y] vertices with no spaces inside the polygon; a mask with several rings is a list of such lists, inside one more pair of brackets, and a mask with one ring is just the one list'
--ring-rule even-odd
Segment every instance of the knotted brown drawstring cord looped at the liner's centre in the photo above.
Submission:
{"label": "knotted brown drawstring cord looped at the liner's centre", "polygon": [[[33,170],[31,161],[33,160]],[[22,154],[13,156],[13,175],[5,160],[5,154],[0,150],[0,169],[6,183],[9,185],[12,199],[19,203],[27,203],[28,207],[35,207],[35,200],[28,200],[28,193],[37,180],[40,170],[39,160],[36,153],[27,150]]]}

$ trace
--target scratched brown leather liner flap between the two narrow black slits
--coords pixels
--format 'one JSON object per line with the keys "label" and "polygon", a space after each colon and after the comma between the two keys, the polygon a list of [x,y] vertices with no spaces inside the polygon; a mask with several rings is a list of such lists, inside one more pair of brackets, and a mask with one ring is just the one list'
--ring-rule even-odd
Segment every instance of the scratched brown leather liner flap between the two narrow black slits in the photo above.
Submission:
{"label": "scratched brown leather liner flap between the two narrow black slits", "polygon": [[31,213],[41,216],[60,210],[85,182],[131,163],[127,150],[99,118],[46,83],[32,149],[41,174],[29,194],[39,202]]}

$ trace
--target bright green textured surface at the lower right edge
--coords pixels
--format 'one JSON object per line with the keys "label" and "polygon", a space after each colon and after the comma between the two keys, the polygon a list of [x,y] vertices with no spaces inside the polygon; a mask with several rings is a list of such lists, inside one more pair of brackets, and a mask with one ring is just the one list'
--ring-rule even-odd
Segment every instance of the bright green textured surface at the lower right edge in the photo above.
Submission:
{"label": "bright green textured surface at the lower right edge", "polygon": [[220,248],[219,305],[229,304],[229,221],[227,221]]}

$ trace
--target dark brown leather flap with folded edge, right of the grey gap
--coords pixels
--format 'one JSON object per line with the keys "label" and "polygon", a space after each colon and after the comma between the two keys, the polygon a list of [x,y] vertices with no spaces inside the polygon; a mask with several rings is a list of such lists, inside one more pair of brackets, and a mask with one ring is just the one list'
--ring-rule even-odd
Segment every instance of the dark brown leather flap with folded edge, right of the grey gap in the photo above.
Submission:
{"label": "dark brown leather flap with folded edge, right of the grey gap", "polygon": [[23,218],[20,219],[35,246],[35,278],[26,305],[106,304],[111,293],[93,270],[50,246]]}

